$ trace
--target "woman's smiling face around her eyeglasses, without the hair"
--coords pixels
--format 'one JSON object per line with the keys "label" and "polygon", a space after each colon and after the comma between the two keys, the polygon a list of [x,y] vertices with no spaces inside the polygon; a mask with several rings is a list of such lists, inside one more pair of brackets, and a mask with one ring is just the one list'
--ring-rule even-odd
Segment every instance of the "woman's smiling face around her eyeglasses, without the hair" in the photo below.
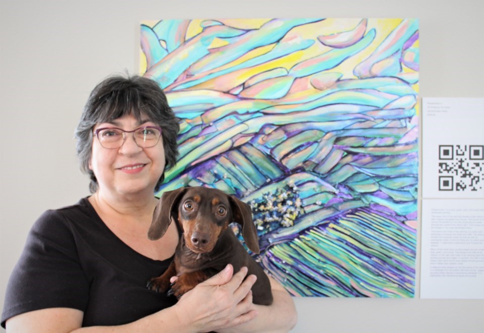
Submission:
{"label": "woman's smiling face around her eyeglasses, without the hair", "polygon": [[[115,119],[113,122],[100,123],[97,128],[116,127],[132,131],[141,126],[157,126],[148,119],[139,122],[132,115]],[[165,168],[163,138],[149,148],[139,147],[133,133],[126,133],[126,140],[119,148],[107,149],[101,146],[94,135],[89,169],[94,172],[98,182],[98,192],[111,195],[129,195],[147,192],[153,194],[156,183]]]}

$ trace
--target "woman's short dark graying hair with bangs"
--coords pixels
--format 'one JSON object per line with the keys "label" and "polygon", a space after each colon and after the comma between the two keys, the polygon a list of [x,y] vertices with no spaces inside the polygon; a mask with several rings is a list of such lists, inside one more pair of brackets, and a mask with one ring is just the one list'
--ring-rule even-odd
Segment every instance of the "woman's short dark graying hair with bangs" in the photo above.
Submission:
{"label": "woman's short dark graying hair with bangs", "polygon": [[[127,115],[133,115],[138,121],[141,121],[144,115],[160,126],[165,150],[165,170],[176,164],[178,119],[168,106],[163,90],[155,81],[139,75],[107,77],[89,95],[75,132],[80,168],[91,179],[89,185],[91,193],[96,192],[98,187],[96,176],[89,169],[92,130],[96,124],[110,122]],[[155,191],[159,189],[163,180],[164,171],[156,184]]]}

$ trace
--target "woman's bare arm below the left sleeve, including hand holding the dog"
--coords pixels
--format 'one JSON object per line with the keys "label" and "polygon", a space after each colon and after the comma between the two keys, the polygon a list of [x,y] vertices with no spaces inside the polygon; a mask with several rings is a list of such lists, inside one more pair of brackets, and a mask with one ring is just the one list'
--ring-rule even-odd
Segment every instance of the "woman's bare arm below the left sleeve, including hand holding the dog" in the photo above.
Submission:
{"label": "woman's bare arm below the left sleeve, including hand holding the dog", "polygon": [[71,308],[49,308],[26,312],[7,321],[7,331],[49,332],[199,332],[244,324],[255,318],[251,288],[254,275],[247,268],[233,274],[223,271],[185,294],[175,305],[126,325],[81,328],[83,312]]}

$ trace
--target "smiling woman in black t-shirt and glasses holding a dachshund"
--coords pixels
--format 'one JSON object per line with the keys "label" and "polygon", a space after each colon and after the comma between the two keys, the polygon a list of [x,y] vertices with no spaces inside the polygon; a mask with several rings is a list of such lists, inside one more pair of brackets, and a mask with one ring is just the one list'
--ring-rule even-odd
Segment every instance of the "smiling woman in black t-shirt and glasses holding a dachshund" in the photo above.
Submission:
{"label": "smiling woman in black t-shirt and glasses holding a dachshund", "polygon": [[176,162],[177,119],[150,79],[113,76],[91,93],[76,131],[90,197],[45,212],[10,278],[8,331],[287,331],[289,294],[271,279],[271,306],[252,303],[256,277],[223,271],[176,302],[146,288],[169,265],[179,234],[171,223],[147,237],[154,192]]}

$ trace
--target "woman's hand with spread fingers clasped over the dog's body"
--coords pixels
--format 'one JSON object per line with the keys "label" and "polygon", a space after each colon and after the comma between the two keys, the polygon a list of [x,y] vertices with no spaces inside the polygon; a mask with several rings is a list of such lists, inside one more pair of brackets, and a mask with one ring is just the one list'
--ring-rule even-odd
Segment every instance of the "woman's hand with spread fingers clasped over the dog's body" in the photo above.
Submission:
{"label": "woman's hand with spread fingers clasped over the dog's body", "polygon": [[174,308],[178,320],[193,331],[211,331],[246,323],[257,316],[251,288],[255,275],[247,267],[233,274],[232,265],[183,295]]}

